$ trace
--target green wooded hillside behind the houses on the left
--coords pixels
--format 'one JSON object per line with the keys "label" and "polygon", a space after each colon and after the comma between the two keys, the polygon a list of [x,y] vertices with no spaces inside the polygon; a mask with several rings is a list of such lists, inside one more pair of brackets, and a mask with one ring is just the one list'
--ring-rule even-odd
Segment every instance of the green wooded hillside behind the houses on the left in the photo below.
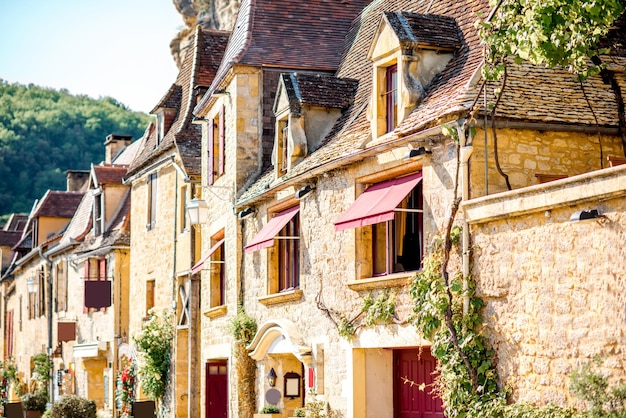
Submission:
{"label": "green wooded hillside behind the houses on the left", "polygon": [[66,170],[104,159],[107,135],[137,139],[149,121],[110,97],[0,79],[0,215],[27,213],[46,190],[64,190]]}

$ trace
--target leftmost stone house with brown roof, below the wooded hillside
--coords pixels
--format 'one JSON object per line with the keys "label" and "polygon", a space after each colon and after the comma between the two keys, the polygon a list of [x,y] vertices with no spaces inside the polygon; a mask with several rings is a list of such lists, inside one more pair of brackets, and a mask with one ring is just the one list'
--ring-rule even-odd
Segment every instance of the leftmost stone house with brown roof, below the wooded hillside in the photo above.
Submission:
{"label": "leftmost stone house with brown roof, below the wooded hillside", "polygon": [[[52,356],[57,347],[55,275],[48,253],[59,244],[79,206],[86,179],[85,172],[68,172],[67,191],[48,190],[35,202],[2,276],[4,358],[14,360],[26,385],[33,383],[33,357]],[[19,401],[15,393],[10,400]]]}

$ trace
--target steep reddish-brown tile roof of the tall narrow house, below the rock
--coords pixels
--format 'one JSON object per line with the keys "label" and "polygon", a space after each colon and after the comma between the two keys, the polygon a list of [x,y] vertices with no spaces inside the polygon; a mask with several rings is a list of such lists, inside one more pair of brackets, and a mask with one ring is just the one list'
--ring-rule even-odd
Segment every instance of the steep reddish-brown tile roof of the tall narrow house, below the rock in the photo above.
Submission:
{"label": "steep reddish-brown tile roof of the tall narrow house, below the rock", "polygon": [[343,39],[369,0],[242,0],[215,80],[194,113],[234,65],[334,71]]}

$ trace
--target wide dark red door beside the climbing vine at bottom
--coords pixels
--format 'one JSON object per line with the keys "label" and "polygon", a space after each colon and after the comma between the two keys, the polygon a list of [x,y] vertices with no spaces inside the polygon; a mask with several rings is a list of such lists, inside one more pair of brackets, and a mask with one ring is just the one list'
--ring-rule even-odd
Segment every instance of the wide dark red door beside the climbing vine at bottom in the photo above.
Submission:
{"label": "wide dark red door beside the climbing vine at bottom", "polygon": [[[428,347],[394,350],[394,418],[443,417],[441,399],[431,394],[436,365]],[[419,389],[422,383],[426,384],[424,390]]]}

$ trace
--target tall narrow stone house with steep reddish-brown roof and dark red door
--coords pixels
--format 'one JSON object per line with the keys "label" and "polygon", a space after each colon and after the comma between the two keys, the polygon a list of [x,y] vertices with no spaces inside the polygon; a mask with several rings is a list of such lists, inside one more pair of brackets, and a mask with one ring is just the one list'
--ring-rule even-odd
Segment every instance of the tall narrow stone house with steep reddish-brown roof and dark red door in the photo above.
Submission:
{"label": "tall narrow stone house with steep reddish-brown roof and dark red door", "polygon": [[[279,76],[296,71],[331,75],[343,38],[366,4],[243,1],[215,80],[194,110],[203,120],[202,198],[210,208],[201,226],[203,256],[193,269],[201,283],[206,416],[249,416],[258,409],[254,389],[247,386],[250,376],[237,374],[245,361],[238,363],[234,356],[236,342],[229,331],[238,307],[249,310],[255,300],[242,246],[249,221],[237,217],[233,204],[271,167]],[[254,386],[261,402],[262,385]]]}

